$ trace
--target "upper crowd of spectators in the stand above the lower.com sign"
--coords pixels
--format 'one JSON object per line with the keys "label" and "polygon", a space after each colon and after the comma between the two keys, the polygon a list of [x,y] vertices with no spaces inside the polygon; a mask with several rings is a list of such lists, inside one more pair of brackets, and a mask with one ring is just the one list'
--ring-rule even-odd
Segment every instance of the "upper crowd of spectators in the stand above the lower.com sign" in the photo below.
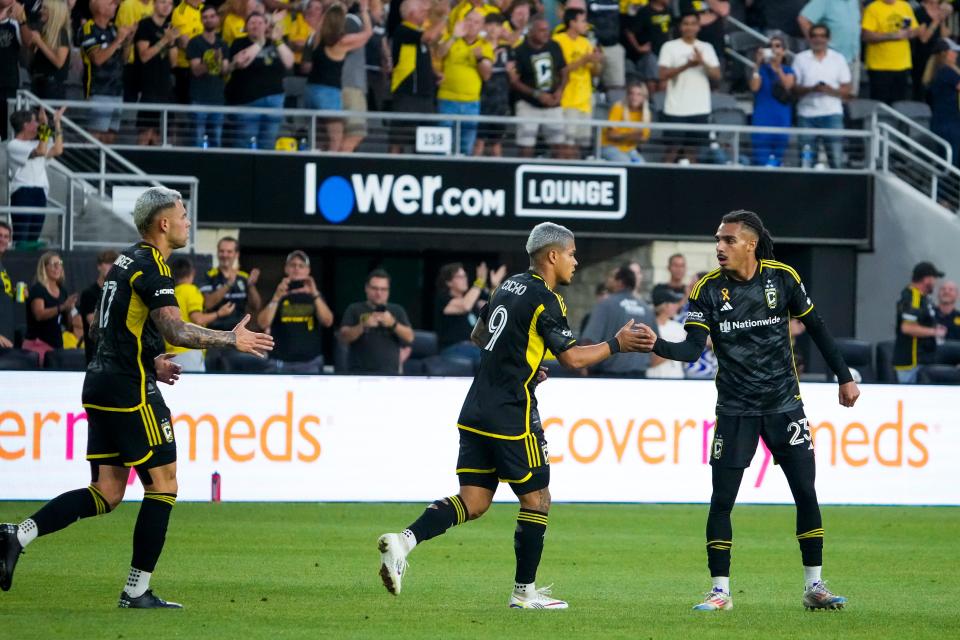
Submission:
{"label": "upper crowd of spectators in the stand above the lower.com sign", "polygon": [[[28,14],[0,0],[0,93],[13,95],[22,65],[41,98],[64,98],[77,51],[83,97],[97,103],[85,125],[108,143],[122,102],[225,104],[264,111],[190,113],[178,142],[274,148],[281,109],[297,98],[308,109],[348,112],[319,127],[323,150],[357,149],[368,135],[363,113],[376,109],[466,116],[451,136],[464,155],[500,155],[507,136],[504,124],[478,126],[469,116],[541,118],[515,127],[521,155],[575,159],[594,153],[584,121],[609,118],[629,126],[601,132],[602,158],[636,163],[650,138],[644,122],[705,124],[716,108],[711,92],[737,84],[743,62],[726,55],[728,46],[743,51],[728,40],[745,33],[735,20],[769,36],[754,40],[755,66],[739,85],[755,96],[752,124],[838,128],[863,78],[861,97],[929,102],[932,127],[960,148],[952,0],[174,2],[43,0]],[[285,82],[297,76],[300,84]],[[418,124],[391,120],[390,150],[412,150]],[[452,119],[431,124],[454,127]],[[161,142],[159,112],[139,111],[136,126],[140,144]],[[289,135],[303,144],[304,133]],[[783,163],[787,136],[755,135],[750,162]],[[841,166],[830,136],[799,140],[802,161],[812,164],[821,144]],[[670,145],[667,162],[710,161],[703,134],[671,136]]]}

